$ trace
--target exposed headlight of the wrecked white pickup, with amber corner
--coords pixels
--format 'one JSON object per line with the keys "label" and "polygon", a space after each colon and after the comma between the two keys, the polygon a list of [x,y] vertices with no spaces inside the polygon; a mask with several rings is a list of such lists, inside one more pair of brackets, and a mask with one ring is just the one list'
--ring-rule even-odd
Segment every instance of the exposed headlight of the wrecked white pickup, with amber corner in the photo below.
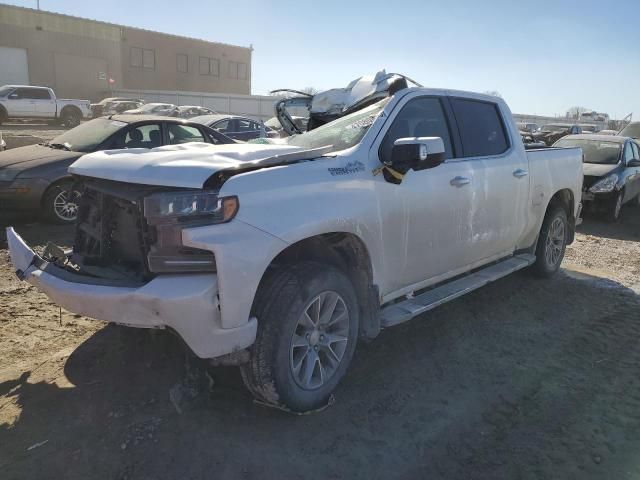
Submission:
{"label": "exposed headlight of the wrecked white pickup, with amber corner", "polygon": [[155,220],[150,223],[162,223],[163,219],[225,223],[236,216],[238,207],[238,197],[219,197],[214,192],[156,193],[144,199],[144,216]]}

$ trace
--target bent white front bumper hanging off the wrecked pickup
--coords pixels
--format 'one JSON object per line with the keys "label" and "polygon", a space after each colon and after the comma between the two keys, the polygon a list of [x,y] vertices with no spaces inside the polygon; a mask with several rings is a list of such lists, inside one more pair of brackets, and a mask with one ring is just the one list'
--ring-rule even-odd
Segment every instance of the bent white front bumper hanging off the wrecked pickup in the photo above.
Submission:
{"label": "bent white front bumper hanging off the wrecked pickup", "polygon": [[139,328],[171,328],[201,358],[215,358],[253,344],[257,320],[222,328],[216,274],[158,275],[137,286],[105,285],[48,263],[7,228],[11,261],[21,280],[65,309]]}

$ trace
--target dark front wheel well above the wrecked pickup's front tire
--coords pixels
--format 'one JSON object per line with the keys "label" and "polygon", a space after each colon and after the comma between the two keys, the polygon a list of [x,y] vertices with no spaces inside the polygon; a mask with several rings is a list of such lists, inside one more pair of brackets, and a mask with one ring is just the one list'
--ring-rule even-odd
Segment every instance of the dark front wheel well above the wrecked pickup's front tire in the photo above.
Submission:
{"label": "dark front wheel well above the wrecked pickup's front tire", "polygon": [[269,264],[258,291],[280,268],[302,261],[329,264],[342,270],[353,283],[358,296],[361,335],[374,338],[380,332],[378,288],[373,284],[369,252],[359,237],[351,233],[333,232],[289,245]]}

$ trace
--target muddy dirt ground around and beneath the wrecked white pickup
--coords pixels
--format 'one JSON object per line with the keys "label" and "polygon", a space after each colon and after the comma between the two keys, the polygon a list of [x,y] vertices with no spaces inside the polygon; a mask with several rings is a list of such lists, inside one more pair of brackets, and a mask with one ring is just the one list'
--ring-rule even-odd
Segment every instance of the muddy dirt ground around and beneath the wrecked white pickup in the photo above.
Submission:
{"label": "muddy dirt ground around and beneath the wrecked white pickup", "polygon": [[588,217],[556,278],[520,272],[361,343],[308,416],[254,404],[236,369],[166,332],[60,311],[0,238],[0,477],[638,479],[640,209],[625,210]]}

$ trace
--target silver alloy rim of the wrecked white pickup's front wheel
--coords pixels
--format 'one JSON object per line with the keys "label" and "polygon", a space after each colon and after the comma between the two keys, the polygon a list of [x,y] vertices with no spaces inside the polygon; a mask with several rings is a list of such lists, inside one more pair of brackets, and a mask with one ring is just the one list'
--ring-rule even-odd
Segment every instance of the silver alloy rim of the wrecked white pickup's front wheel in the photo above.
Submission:
{"label": "silver alloy rim of the wrecked white pickup's front wheel", "polygon": [[304,390],[322,387],[337,372],[349,342],[349,310],[340,294],[322,292],[302,311],[291,336],[289,365]]}

